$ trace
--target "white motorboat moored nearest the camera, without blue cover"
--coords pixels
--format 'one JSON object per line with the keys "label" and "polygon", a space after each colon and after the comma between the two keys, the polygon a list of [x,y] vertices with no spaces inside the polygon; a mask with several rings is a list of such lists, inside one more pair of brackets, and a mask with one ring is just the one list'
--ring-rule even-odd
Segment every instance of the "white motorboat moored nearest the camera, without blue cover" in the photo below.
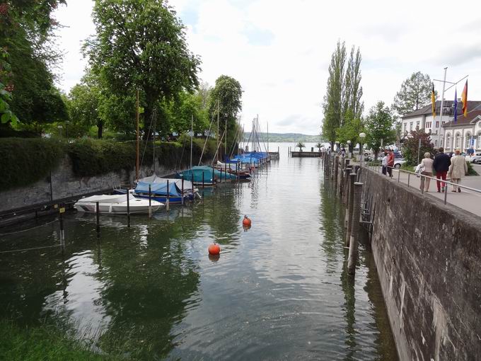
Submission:
{"label": "white motorboat moored nearest the camera, without blue cover", "polygon": [[[92,195],[91,197],[81,198],[75,203],[74,208],[79,212],[95,213],[96,205],[100,213],[107,214],[127,214],[127,195]],[[151,200],[151,210],[155,212],[163,203]],[[130,214],[149,213],[149,200],[136,198],[129,194]]]}

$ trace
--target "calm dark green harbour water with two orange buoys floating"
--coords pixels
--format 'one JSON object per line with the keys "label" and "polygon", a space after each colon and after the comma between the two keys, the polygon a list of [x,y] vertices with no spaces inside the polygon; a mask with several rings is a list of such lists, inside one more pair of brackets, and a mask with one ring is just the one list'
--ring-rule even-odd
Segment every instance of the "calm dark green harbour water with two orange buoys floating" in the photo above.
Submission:
{"label": "calm dark green harbour water with two orange buoys floating", "polygon": [[[99,241],[95,217],[67,214],[64,256],[1,253],[0,316],[54,319],[98,352],[145,360],[397,360],[371,254],[361,246],[347,275],[342,207],[320,160],[289,159],[289,145],[271,144],[279,161],[203,202],[130,229],[102,216]],[[0,239],[0,251],[49,246],[59,226]]]}

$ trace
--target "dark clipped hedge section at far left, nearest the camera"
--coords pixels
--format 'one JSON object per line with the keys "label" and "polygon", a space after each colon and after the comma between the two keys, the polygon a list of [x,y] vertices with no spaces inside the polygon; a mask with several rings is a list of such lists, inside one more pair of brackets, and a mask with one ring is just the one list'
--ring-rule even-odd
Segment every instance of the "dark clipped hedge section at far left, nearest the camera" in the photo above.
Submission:
{"label": "dark clipped hedge section at far left, nearest the camera", "polygon": [[65,154],[54,139],[0,138],[0,189],[21,187],[50,175]]}

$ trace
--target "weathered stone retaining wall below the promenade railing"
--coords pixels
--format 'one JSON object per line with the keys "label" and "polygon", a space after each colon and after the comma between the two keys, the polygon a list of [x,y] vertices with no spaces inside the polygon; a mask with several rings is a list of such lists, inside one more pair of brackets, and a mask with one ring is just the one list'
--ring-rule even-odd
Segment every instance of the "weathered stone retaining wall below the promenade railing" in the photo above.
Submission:
{"label": "weathered stone retaining wall below the promenade railing", "polygon": [[481,217],[362,173],[400,360],[480,360]]}

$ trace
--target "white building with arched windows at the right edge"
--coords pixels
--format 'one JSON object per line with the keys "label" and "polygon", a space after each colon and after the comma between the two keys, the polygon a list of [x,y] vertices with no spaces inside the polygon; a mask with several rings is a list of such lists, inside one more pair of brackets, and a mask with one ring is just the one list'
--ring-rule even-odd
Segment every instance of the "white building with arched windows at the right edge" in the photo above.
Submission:
{"label": "white building with arched windows at the right edge", "polygon": [[481,106],[480,110],[469,110],[466,118],[458,115],[458,120],[447,122],[444,127],[444,144],[446,151],[468,151],[473,148],[481,151]]}

